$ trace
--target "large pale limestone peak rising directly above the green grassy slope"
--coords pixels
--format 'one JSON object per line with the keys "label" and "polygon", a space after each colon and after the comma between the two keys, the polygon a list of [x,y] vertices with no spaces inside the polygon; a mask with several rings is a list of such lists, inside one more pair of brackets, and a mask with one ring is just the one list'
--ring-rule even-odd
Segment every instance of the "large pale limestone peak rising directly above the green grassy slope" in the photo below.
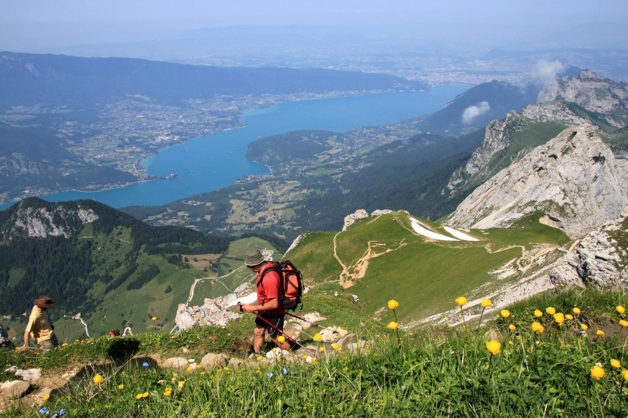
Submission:
{"label": "large pale limestone peak rising directly above the green grassy slope", "polygon": [[596,131],[565,129],[476,188],[447,222],[507,227],[538,213],[575,238],[619,217],[628,205],[628,161],[615,159]]}

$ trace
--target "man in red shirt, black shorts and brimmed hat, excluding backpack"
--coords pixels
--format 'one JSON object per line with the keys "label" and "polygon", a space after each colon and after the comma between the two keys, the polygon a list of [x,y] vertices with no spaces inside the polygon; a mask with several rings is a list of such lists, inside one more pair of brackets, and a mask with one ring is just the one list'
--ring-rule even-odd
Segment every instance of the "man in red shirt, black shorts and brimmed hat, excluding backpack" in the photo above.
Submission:
{"label": "man in red shirt, black shorts and brimmed hat, excluding backpack", "polygon": [[[282,350],[290,350],[290,344],[288,341],[277,340],[280,335],[275,329],[283,331],[283,317],[286,311],[283,309],[283,289],[281,288],[281,279],[276,271],[268,271],[264,274],[264,271],[273,265],[271,262],[264,260],[264,256],[259,250],[249,250],[244,256],[244,264],[253,272],[257,273],[257,305],[242,304],[242,309],[247,312],[257,311],[258,315],[266,319],[270,326],[260,318],[255,319],[255,328],[253,333],[255,340],[253,343],[253,350],[259,353],[264,340],[266,338],[266,330],[271,337],[273,343],[275,343]],[[263,275],[264,274],[264,275]]]}

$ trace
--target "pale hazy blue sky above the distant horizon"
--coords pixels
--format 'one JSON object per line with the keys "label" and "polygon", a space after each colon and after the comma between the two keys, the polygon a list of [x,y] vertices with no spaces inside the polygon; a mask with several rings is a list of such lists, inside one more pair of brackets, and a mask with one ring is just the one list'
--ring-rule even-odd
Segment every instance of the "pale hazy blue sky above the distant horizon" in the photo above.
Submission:
{"label": "pale hazy blue sky above the distant horizon", "polygon": [[0,10],[0,50],[24,51],[239,24],[628,23],[626,0],[0,0]]}

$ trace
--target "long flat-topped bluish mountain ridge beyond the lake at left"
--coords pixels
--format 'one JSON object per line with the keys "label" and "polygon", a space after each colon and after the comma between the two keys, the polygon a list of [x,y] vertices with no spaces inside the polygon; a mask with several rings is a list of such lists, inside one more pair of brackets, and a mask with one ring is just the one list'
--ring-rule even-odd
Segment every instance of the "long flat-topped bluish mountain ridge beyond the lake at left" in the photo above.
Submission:
{"label": "long flat-topped bluish mountain ridge beyond the lake at left", "polygon": [[416,90],[425,83],[390,75],[323,69],[186,65],[136,58],[84,58],[0,52],[0,109],[78,102],[102,105],[126,95],[180,104],[216,95]]}

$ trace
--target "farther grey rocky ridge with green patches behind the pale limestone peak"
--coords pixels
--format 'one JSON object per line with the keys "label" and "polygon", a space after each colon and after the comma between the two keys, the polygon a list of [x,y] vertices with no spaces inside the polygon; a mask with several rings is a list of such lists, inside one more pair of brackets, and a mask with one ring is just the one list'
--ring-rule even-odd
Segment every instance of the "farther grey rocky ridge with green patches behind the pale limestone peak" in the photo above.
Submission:
{"label": "farther grey rocky ridge with green patches behind the pale limestone peak", "polygon": [[607,132],[625,127],[627,98],[624,83],[588,70],[556,80],[539,94],[538,103],[487,125],[484,142],[454,171],[443,194],[465,195],[568,126],[590,122]]}

